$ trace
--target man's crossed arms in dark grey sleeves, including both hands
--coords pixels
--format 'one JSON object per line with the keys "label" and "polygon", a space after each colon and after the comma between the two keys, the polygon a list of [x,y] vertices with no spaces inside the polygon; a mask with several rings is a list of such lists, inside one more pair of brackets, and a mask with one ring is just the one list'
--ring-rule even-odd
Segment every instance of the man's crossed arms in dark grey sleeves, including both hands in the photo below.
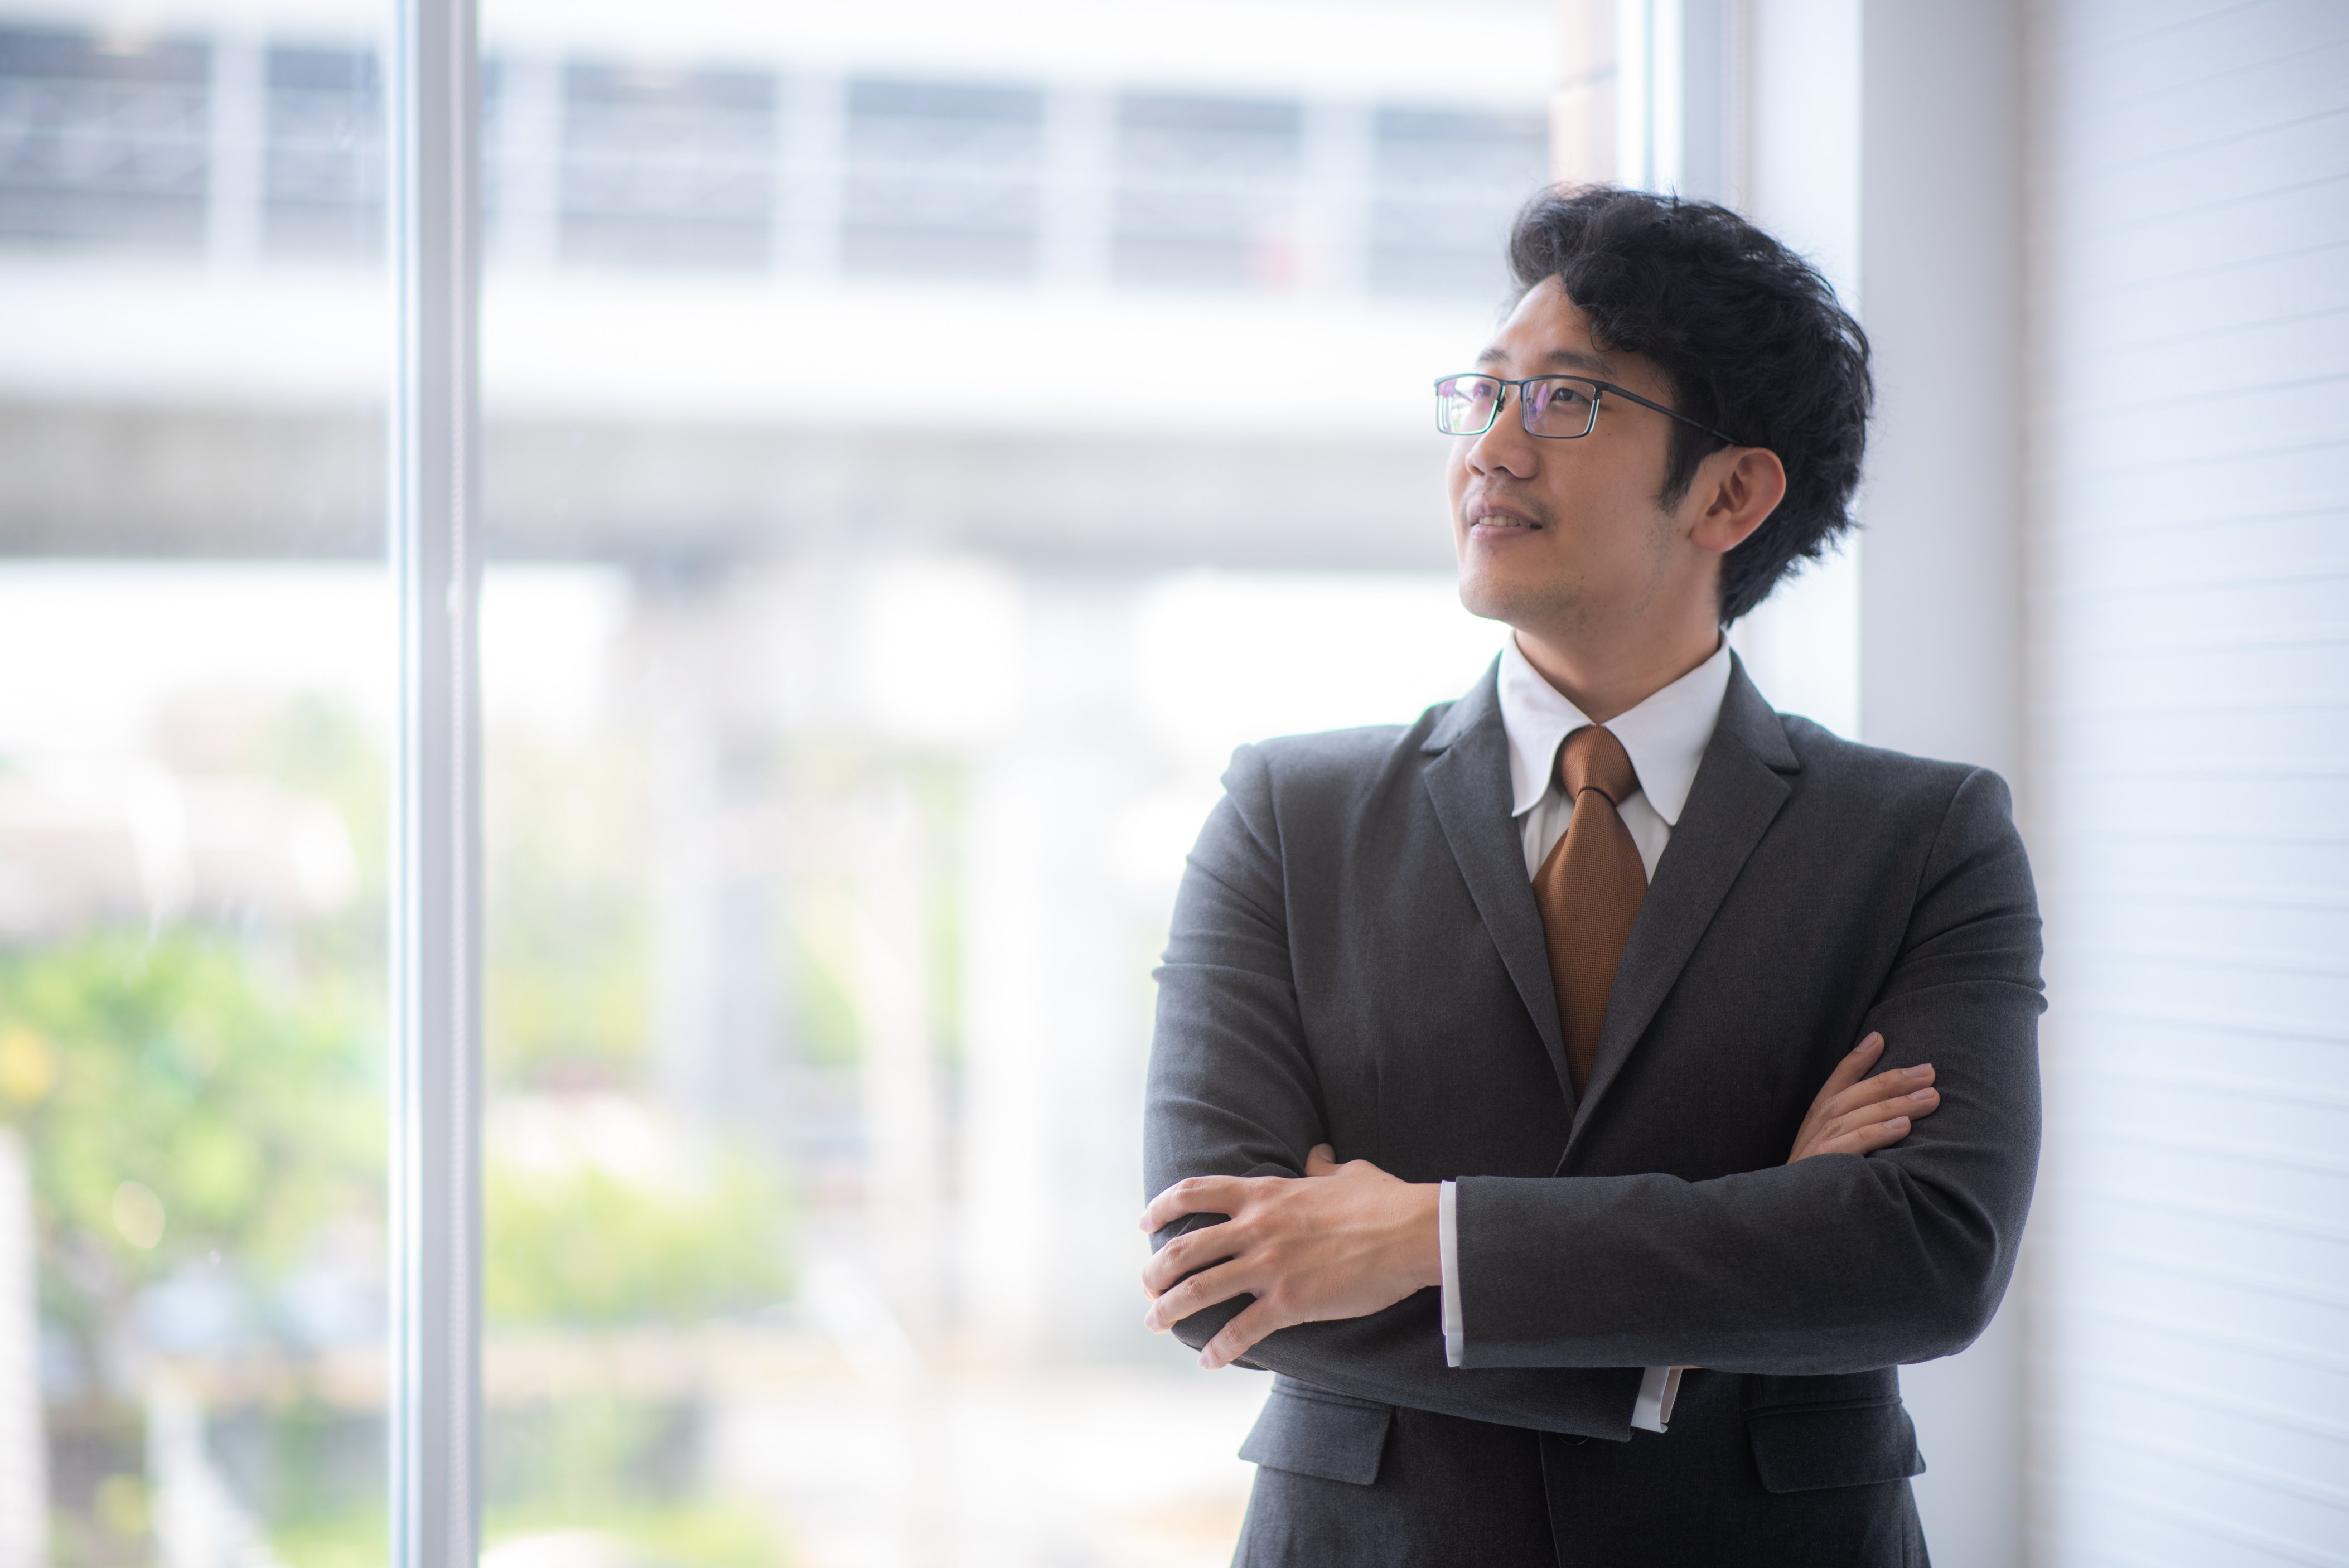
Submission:
{"label": "man's crossed arms in dark grey sleeves, including both hands", "polygon": [[1146,1214],[1167,1244],[1146,1275],[1151,1322],[1203,1361],[1245,1354],[1341,1394],[1626,1437],[1640,1366],[1865,1371],[1950,1354],[1987,1324],[2030,1204],[2041,1005],[2030,873],[1994,775],[1947,800],[1867,1009],[1896,1061],[1933,1061],[1954,1091],[1933,1120],[1917,1103],[1896,1127],[1914,1089],[1846,1059],[1776,1169],[1461,1178],[1466,1368],[1445,1366],[1423,1289],[1435,1188],[1362,1162],[1325,1174],[1308,1153],[1325,1127],[1268,782],[1236,768],[1231,786],[1177,906],[1151,1068],[1151,1174],[1170,1188]]}

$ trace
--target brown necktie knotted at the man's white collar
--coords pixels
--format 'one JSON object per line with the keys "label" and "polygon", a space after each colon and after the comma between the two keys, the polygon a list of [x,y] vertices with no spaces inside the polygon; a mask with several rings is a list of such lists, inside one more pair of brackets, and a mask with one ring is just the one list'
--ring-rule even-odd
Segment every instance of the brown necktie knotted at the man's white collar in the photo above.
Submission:
{"label": "brown necktie knotted at the man's white collar", "polygon": [[1534,906],[1550,948],[1567,1068],[1581,1094],[1600,1052],[1607,993],[1614,991],[1630,922],[1640,918],[1640,899],[1647,897],[1640,845],[1616,815],[1640,791],[1640,775],[1633,772],[1623,742],[1588,725],[1557,749],[1557,786],[1574,800],[1574,817],[1534,873]]}

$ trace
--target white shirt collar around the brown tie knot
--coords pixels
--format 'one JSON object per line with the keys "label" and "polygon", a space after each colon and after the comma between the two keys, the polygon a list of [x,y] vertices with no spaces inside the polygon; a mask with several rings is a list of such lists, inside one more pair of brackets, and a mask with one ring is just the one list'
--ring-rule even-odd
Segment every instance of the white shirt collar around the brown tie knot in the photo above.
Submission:
{"label": "white shirt collar around the brown tie knot", "polygon": [[[1508,732],[1510,815],[1522,817],[1550,793],[1557,742],[1590,721],[1517,653],[1515,636],[1501,646],[1499,685],[1501,728]],[[1649,692],[1628,714],[1607,721],[1607,730],[1630,753],[1640,793],[1670,826],[1680,824],[1680,807],[1689,803],[1696,765],[1705,761],[1724,695],[1729,695],[1729,638],[1722,638],[1710,660],[1663,690]]]}

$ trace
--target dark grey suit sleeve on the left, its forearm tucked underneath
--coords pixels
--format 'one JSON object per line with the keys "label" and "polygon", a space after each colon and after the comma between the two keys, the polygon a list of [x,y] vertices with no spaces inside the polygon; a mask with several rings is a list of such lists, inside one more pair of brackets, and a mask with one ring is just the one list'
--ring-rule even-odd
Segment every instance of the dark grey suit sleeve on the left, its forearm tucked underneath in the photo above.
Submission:
{"label": "dark grey suit sleeve on the left, its forearm tucked underneath", "polygon": [[[1301,1176],[1306,1150],[1327,1136],[1292,981],[1264,756],[1243,746],[1224,786],[1191,852],[1158,969],[1146,1195],[1184,1176]],[[1189,1216],[1158,1232],[1153,1246],[1217,1221]],[[1250,1300],[1238,1296],[1186,1317],[1174,1336],[1200,1347]],[[1243,1364],[1337,1394],[1618,1441],[1630,1437],[1640,1392],[1635,1366],[1447,1368],[1435,1291],[1369,1317],[1280,1329]]]}

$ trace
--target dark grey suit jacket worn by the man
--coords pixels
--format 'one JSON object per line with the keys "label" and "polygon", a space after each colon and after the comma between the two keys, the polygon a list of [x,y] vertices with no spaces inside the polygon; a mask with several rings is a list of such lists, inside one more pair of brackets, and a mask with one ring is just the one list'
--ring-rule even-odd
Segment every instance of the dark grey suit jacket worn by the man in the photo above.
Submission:
{"label": "dark grey suit jacket worn by the man", "polygon": [[[1257,1345],[1280,1378],[1240,1561],[1921,1563],[1893,1368],[1990,1322],[2039,1153],[1999,777],[1837,739],[1734,669],[1581,1096],[1489,671],[1407,730],[1243,746],[1224,786],[1158,972],[1146,1185],[1290,1176],[1320,1141],[1456,1178],[1468,1326],[1463,1368],[1438,1291]],[[1870,1028],[1882,1066],[1938,1066],[1940,1110],[1785,1164]],[[1661,1364],[1710,1371],[1633,1434]]]}

